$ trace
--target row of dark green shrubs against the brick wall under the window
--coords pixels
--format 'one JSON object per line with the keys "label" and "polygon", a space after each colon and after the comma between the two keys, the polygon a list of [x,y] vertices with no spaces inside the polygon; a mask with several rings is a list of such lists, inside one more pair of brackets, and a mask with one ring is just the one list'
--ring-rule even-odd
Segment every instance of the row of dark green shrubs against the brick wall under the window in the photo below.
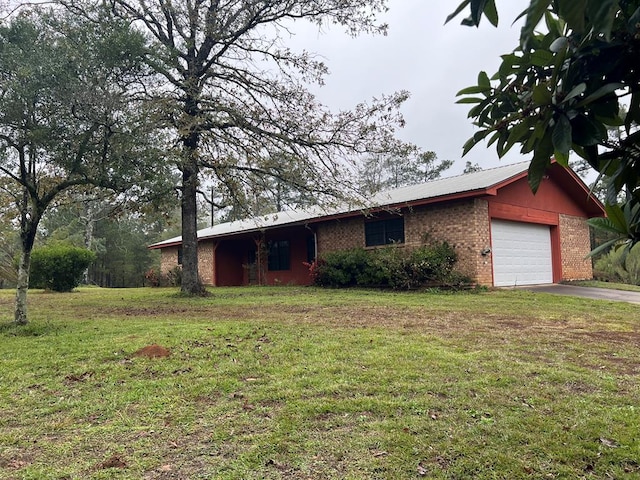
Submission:
{"label": "row of dark green shrubs against the brick wall under the window", "polygon": [[460,287],[470,279],[453,270],[457,255],[447,242],[416,249],[389,246],[354,248],[324,255],[309,265],[314,283],[330,287],[390,287],[409,290],[425,286]]}

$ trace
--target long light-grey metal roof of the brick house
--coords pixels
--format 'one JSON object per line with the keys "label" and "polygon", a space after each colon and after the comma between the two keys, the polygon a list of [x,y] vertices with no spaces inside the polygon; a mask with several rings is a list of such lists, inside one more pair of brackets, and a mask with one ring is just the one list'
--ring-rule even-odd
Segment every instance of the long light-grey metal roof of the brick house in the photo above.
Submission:
{"label": "long light-grey metal roof of the brick house", "polygon": [[[400,207],[421,200],[428,201],[439,197],[484,191],[509,179],[526,175],[528,167],[529,161],[519,162],[478,172],[439,178],[418,185],[396,188],[374,195],[367,205],[359,205],[358,208],[345,206],[343,208],[323,209],[313,207],[306,210],[284,211],[246,220],[220,223],[198,230],[198,239],[222,237],[236,233],[250,233],[285,225],[305,224],[325,217],[363,212],[367,208]],[[174,237],[154,243],[150,245],[150,248],[177,245],[181,241],[182,237]]]}

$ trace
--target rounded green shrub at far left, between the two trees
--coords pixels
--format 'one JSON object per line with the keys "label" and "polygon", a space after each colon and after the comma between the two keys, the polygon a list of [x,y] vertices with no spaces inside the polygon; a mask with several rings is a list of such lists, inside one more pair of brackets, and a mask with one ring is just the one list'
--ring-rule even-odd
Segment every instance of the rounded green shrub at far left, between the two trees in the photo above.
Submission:
{"label": "rounded green shrub at far left, between the two trees", "polygon": [[82,280],[82,274],[96,259],[85,248],[56,245],[31,252],[30,284],[56,292],[70,292]]}

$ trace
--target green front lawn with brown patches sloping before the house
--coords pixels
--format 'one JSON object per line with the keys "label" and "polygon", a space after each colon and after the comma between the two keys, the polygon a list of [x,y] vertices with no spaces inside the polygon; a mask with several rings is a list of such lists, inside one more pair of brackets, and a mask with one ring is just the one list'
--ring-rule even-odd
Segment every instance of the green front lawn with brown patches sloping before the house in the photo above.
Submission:
{"label": "green front lawn with brown patches sloping before the house", "polygon": [[0,478],[640,475],[637,306],[213,293],[0,291]]}

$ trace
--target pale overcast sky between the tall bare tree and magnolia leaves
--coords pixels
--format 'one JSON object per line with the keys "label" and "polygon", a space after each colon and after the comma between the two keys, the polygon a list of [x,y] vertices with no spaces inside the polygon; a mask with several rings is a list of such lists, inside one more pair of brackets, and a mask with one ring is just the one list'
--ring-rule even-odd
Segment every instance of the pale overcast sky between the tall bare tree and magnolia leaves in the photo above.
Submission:
{"label": "pale overcast sky between the tall bare tree and magnolia leaves", "polygon": [[444,21],[458,0],[389,0],[383,17],[387,36],[351,38],[337,27],[319,33],[304,28],[292,39],[319,53],[330,69],[318,96],[333,108],[349,108],[358,102],[408,90],[411,98],[402,112],[407,125],[399,137],[436,152],[440,159],[454,160],[445,176],[462,173],[470,160],[482,168],[527,160],[517,148],[499,160],[495,147],[477,145],[462,158],[462,145],[474,133],[467,118],[468,105],[456,104],[456,93],[474,85],[478,72],[495,73],[500,55],[517,45],[520,23],[513,20],[527,6],[524,0],[498,2],[499,28],[486,20],[477,28]]}

